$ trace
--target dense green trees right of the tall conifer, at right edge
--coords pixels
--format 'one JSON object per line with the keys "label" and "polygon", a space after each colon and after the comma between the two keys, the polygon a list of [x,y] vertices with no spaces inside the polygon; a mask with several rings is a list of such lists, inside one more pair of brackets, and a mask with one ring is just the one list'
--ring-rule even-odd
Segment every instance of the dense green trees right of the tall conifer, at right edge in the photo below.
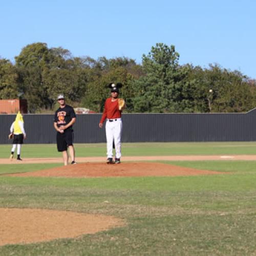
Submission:
{"label": "dense green trees right of the tall conifer, at right edge", "polygon": [[195,67],[189,79],[196,81],[194,95],[200,112],[243,112],[254,108],[253,87],[238,71],[222,69],[217,64],[208,69]]}

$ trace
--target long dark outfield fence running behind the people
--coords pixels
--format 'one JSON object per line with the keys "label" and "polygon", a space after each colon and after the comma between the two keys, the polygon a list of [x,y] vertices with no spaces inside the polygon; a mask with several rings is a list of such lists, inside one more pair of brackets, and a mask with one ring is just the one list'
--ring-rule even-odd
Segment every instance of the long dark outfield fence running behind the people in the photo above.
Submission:
{"label": "long dark outfield fence running behind the people", "polygon": [[[55,143],[54,115],[24,115],[26,143]],[[98,127],[101,114],[80,114],[74,125],[75,143],[105,142]],[[15,115],[0,115],[1,144]],[[247,113],[123,114],[122,142],[255,141],[256,109]]]}

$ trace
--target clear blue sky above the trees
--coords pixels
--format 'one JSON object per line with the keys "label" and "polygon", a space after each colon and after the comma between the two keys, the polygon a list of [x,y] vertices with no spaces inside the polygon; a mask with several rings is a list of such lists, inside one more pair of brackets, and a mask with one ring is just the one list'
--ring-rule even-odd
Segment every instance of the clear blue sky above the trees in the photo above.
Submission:
{"label": "clear blue sky above the trees", "polygon": [[239,70],[256,79],[256,1],[1,1],[0,56],[45,42],[73,56],[129,57],[157,42],[175,45],[179,63]]}

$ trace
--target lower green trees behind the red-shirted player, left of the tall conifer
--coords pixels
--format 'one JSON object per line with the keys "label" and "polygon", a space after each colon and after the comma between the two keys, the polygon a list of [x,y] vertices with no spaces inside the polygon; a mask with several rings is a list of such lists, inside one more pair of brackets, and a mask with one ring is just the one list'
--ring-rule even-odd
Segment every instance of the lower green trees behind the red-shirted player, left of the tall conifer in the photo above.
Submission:
{"label": "lower green trees behind the red-shirted player, left of the tall conifer", "polygon": [[100,57],[97,61],[87,60],[91,67],[90,82],[81,101],[82,105],[96,112],[102,112],[105,99],[110,97],[108,84],[110,82],[121,82],[123,87],[119,96],[126,101],[127,107],[125,111],[130,112],[132,110],[131,99],[134,96],[134,91],[130,84],[134,76],[138,76],[140,73],[140,68],[135,61],[128,58],[108,60],[105,57]]}

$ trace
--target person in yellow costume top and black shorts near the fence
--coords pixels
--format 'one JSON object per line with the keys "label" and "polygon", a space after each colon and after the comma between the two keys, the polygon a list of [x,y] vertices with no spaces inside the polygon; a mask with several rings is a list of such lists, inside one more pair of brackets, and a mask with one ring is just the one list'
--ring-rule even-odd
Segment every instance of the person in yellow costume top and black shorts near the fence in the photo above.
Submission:
{"label": "person in yellow costume top and black shorts near the fence", "polygon": [[13,159],[14,156],[14,151],[17,146],[17,160],[22,160],[20,158],[20,150],[23,144],[23,139],[26,139],[26,133],[24,130],[24,121],[23,121],[23,116],[18,112],[16,115],[15,121],[12,123],[10,127],[10,137],[13,137],[13,142],[12,142],[12,150],[11,150],[11,155],[10,159]]}

